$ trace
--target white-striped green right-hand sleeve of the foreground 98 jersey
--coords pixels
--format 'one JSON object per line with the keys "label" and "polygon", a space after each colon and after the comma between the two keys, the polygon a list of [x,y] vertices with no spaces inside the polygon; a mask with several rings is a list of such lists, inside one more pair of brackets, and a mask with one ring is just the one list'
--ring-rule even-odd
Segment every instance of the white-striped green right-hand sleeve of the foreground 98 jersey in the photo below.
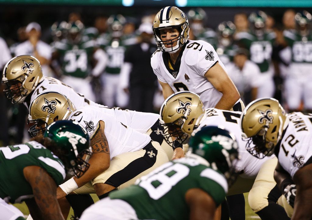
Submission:
{"label": "white-striped green right-hand sleeve of the foreground 98 jersey", "polygon": [[207,168],[200,173],[199,185],[219,206],[225,199],[228,185],[225,177],[217,171]]}

